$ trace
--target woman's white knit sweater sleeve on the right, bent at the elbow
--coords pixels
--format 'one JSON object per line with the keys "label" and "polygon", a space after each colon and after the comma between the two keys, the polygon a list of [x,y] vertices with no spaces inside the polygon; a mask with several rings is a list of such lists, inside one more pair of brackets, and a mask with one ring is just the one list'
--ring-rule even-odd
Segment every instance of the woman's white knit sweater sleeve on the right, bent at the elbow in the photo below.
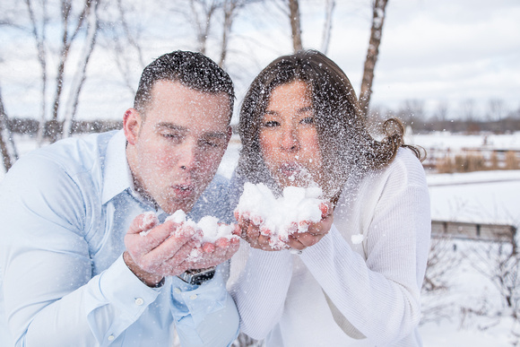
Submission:
{"label": "woman's white knit sweater sleeve on the right, bent at the elbow", "polygon": [[386,178],[367,212],[366,260],[334,225],[300,256],[342,315],[377,345],[397,342],[418,325],[429,252],[428,187],[399,176]]}

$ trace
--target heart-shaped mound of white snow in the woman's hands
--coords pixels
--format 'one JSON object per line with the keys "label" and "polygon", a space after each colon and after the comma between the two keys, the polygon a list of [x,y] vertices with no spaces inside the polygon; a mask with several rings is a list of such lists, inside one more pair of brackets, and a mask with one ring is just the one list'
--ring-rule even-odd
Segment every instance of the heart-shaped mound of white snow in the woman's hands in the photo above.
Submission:
{"label": "heart-shaped mound of white snow in the woman's hands", "polygon": [[326,213],[325,200],[320,199],[320,187],[285,187],[276,198],[263,183],[247,182],[238,200],[236,216],[244,216],[269,236],[269,245],[282,248],[295,232],[306,232],[311,222],[321,221]]}

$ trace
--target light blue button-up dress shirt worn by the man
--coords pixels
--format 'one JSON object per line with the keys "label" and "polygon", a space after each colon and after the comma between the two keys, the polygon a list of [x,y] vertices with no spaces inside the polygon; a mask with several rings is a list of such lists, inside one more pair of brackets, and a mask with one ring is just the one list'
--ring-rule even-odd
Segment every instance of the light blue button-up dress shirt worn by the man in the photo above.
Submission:
{"label": "light blue button-up dress shirt worn by the man", "polygon": [[[191,286],[152,289],[122,259],[134,217],[153,206],[133,190],[122,131],[67,139],[18,160],[0,184],[0,325],[16,346],[226,346],[238,312],[229,266]],[[188,216],[225,220],[216,177]],[[166,215],[158,212],[160,219]]]}

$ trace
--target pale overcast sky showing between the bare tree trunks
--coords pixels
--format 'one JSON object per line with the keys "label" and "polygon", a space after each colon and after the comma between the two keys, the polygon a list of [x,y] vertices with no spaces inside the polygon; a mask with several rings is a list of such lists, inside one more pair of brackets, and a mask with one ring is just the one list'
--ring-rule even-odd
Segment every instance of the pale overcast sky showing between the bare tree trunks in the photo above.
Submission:
{"label": "pale overcast sky showing between the bare tree trunks", "polygon": [[[175,21],[169,13],[157,12],[157,2],[135,2],[134,18],[143,28],[145,64],[171,50],[196,48],[188,34],[193,31],[189,25],[172,24]],[[305,48],[321,48],[324,3],[301,0]],[[370,32],[370,1],[336,3],[328,56],[342,67],[359,93]],[[151,9],[150,4],[155,6]],[[458,108],[465,100],[473,100],[481,115],[490,99],[504,100],[507,109],[520,108],[519,19],[520,0],[389,0],[371,106],[399,108],[405,100],[423,100],[431,114],[439,102],[448,102],[450,117],[460,115]],[[38,113],[39,65],[30,59],[34,45],[22,40],[20,33],[13,36],[10,32],[14,31],[2,30],[0,27],[4,104],[11,114],[30,117]],[[261,68],[290,53],[289,30],[287,18],[280,12],[253,7],[240,13],[227,61],[238,104]],[[171,39],[172,35],[177,39]],[[22,42],[26,41],[24,50]],[[211,44],[208,56],[218,57]],[[96,48],[78,117],[120,118],[132,106],[132,91],[115,76],[113,59],[113,53]],[[142,66],[136,59],[129,65],[131,84],[136,87]]]}

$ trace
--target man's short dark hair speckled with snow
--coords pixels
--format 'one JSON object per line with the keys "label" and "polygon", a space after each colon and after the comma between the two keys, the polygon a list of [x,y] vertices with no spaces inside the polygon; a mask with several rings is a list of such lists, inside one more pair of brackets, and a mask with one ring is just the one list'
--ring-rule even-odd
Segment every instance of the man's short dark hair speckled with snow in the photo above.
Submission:
{"label": "man's short dark hair speckled with snow", "polygon": [[201,53],[178,50],[158,57],[144,68],[134,99],[134,108],[143,116],[157,81],[180,82],[195,91],[225,92],[230,97],[230,110],[233,111],[235,91],[230,75]]}

